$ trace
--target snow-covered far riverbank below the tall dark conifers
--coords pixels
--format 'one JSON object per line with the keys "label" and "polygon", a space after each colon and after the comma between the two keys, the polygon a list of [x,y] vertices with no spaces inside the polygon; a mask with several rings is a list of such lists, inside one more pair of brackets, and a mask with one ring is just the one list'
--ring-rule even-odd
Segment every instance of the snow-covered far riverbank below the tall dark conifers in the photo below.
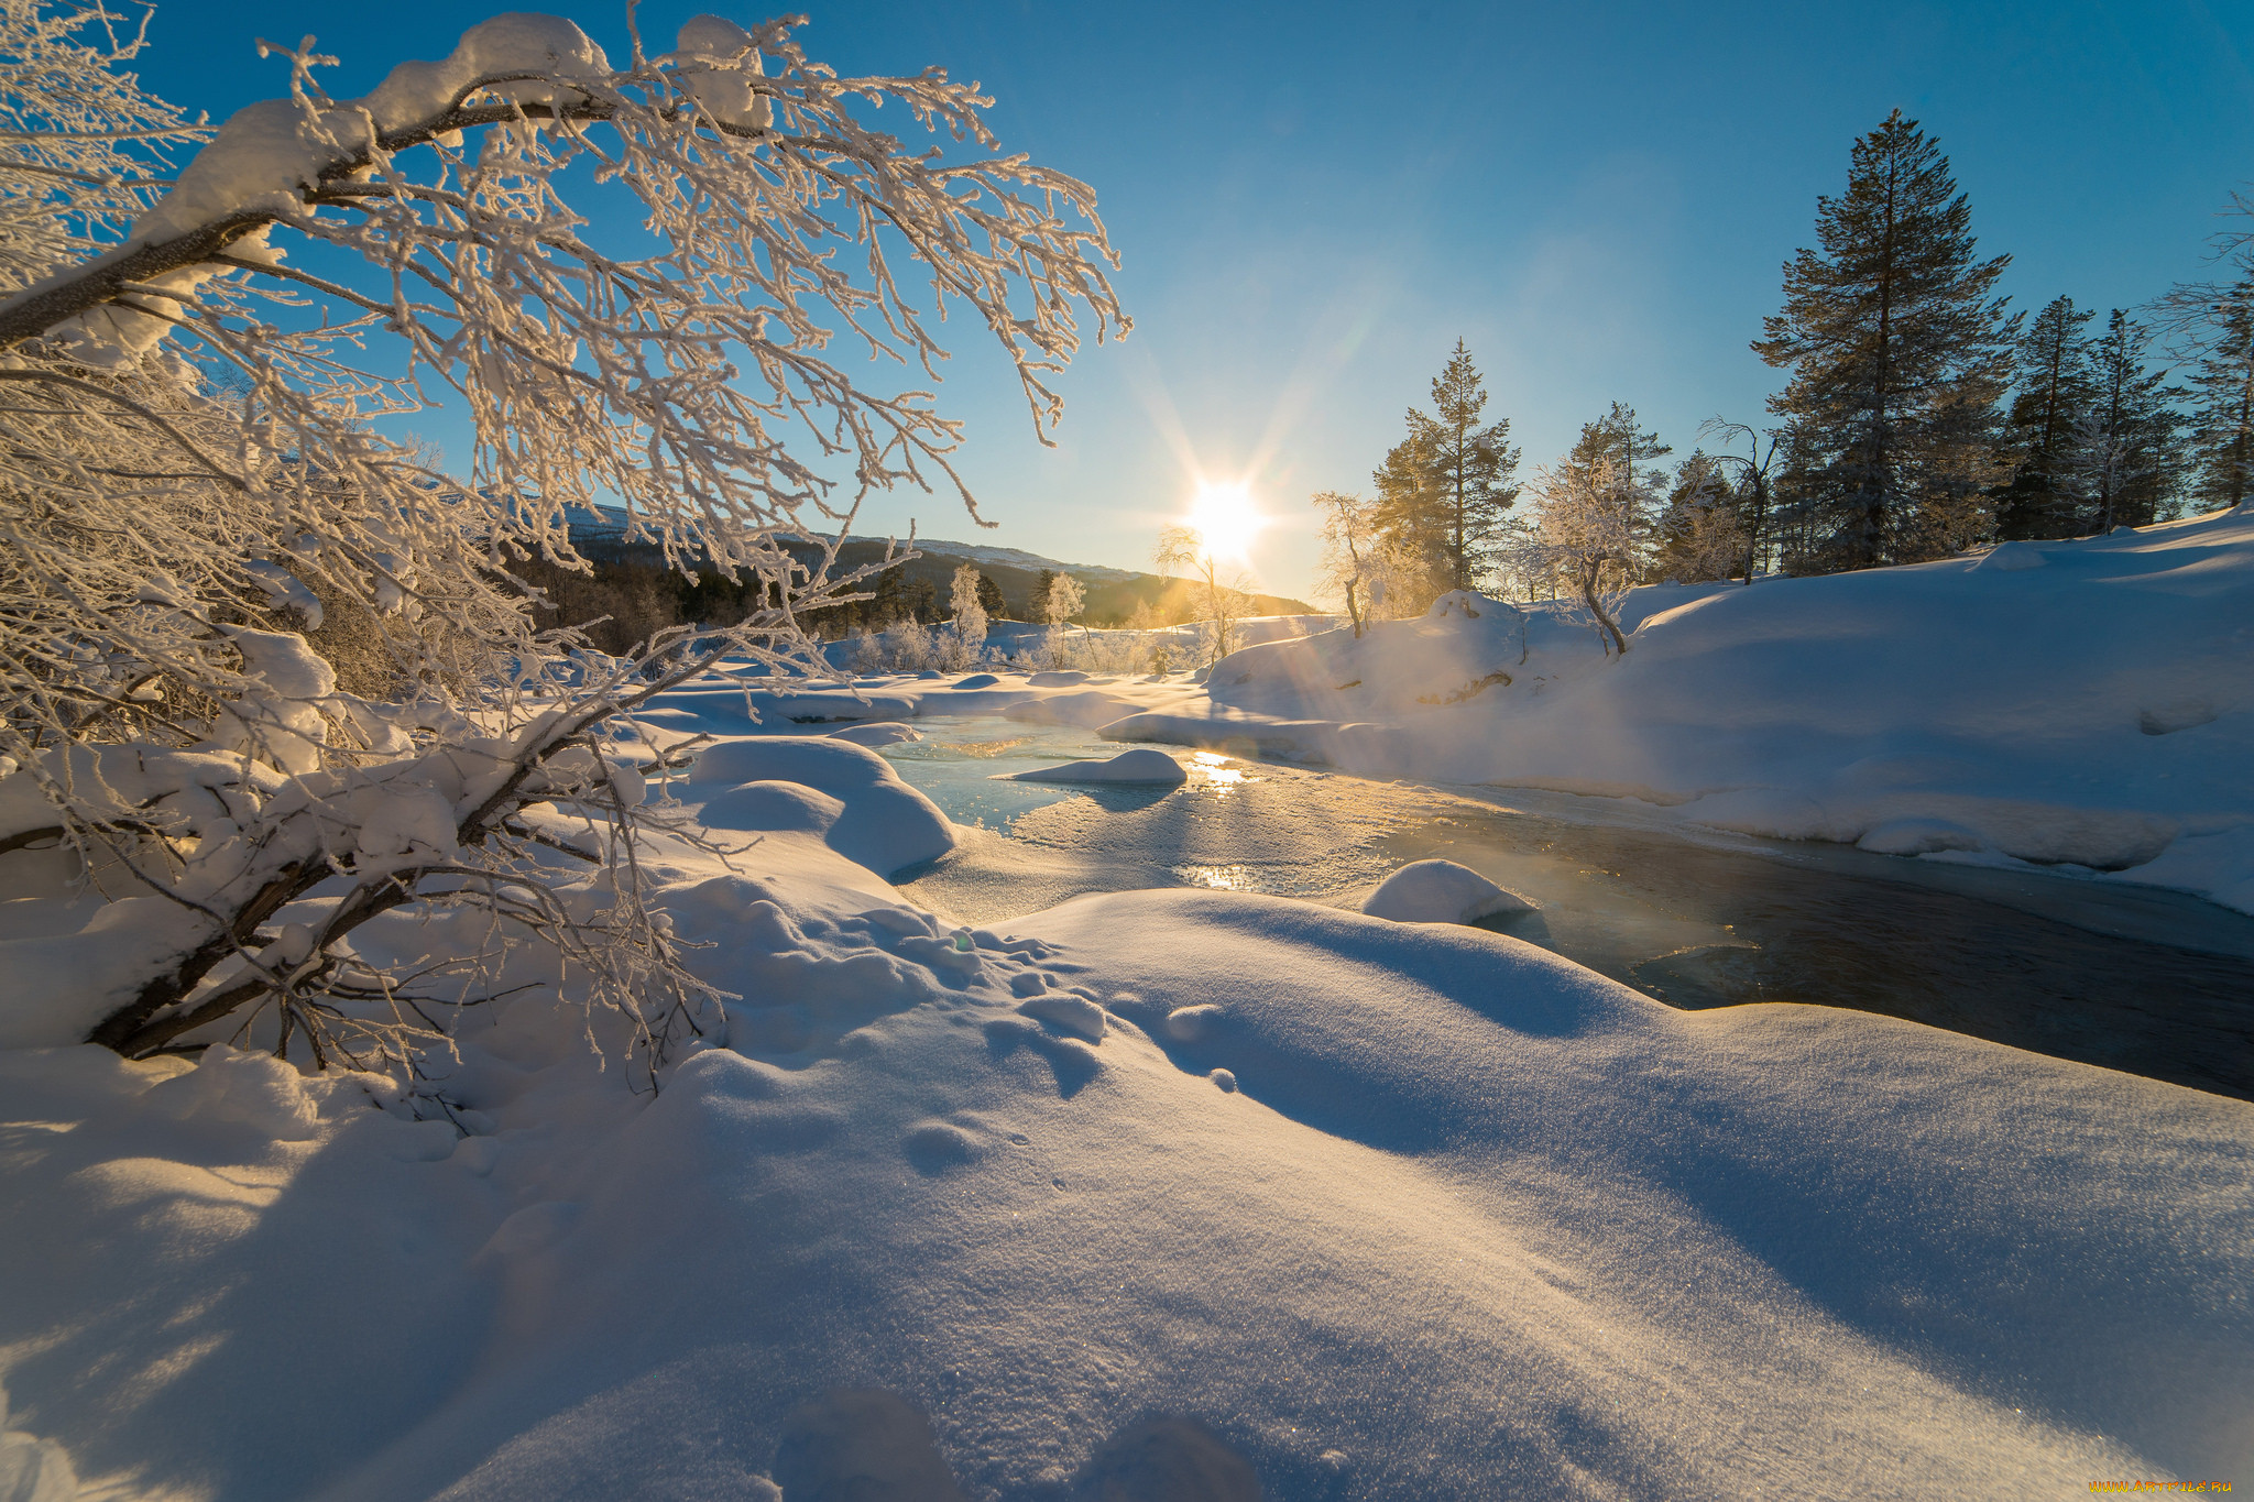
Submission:
{"label": "snow-covered far riverbank below the tall dark conifers", "polygon": [[[782,718],[1053,716],[1364,777],[1544,788],[2254,912],[2254,511],[1823,579],[1650,585],[1246,646],[1210,680],[863,680]],[[827,707],[825,707],[827,705]]]}

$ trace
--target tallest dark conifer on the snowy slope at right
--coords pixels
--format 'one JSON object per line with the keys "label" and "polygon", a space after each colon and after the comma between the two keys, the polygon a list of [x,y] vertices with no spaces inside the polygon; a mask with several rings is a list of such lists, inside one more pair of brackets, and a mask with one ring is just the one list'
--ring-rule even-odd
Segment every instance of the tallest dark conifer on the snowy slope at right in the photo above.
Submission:
{"label": "tallest dark conifer on the snowy slope at right", "polygon": [[1936,556],[1986,529],[2004,477],[1995,405],[2011,369],[2011,257],[1975,259],[1950,162],[1896,110],[1855,142],[1846,194],[1817,198],[1817,241],[1785,263],[1785,306],[1754,340],[1792,369],[1769,408],[1794,428],[1821,567]]}

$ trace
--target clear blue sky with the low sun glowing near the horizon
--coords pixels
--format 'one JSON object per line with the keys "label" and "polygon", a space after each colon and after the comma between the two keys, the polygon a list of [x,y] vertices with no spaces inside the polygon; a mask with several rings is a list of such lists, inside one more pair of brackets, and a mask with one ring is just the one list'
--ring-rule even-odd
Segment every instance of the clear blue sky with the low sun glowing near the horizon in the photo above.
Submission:
{"label": "clear blue sky with the low sun glowing near the horizon", "polygon": [[[498,9],[498,7],[494,7]],[[622,52],[618,5],[550,7]],[[658,45],[694,9],[651,0]],[[2254,180],[2254,5],[978,5],[820,7],[841,72],[940,63],[996,95],[1003,144],[1089,180],[1136,318],[1064,378],[1059,448],[962,322],[942,405],[969,419],[976,540],[1145,565],[1195,473],[1278,518],[1262,581],[1305,592],[1307,498],[1368,489],[1456,338],[1526,468],[1627,401],[1688,450],[1758,419],[1747,351],[1848,142],[1900,106],[1941,140],[2015,306],[2132,306],[2202,272]],[[144,79],[214,117],[279,92],[255,36],[313,32],[354,95],[442,56],[485,7],[167,0]],[[433,435],[444,439],[444,423]],[[868,529],[969,538],[897,493]]]}

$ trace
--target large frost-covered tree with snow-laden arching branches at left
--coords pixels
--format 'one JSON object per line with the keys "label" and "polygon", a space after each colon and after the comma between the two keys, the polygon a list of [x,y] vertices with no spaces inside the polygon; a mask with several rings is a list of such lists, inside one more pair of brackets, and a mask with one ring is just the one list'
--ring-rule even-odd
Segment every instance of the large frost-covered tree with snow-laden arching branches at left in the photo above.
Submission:
{"label": "large frost-covered tree with snow-laden arching branches at left", "polygon": [[[365,99],[279,52],[289,97],[210,133],[108,20],[0,0],[0,851],[61,840],[115,898],[79,973],[9,1004],[90,995],[126,1054],[399,1065],[536,946],[654,1063],[721,998],[636,876],[640,840],[690,835],[633,712],[721,653],[820,669],[805,613],[884,567],[832,567],[868,491],[969,504],[958,426],[838,342],[929,374],[960,304],[1055,421],[1075,320],[1125,329],[1091,194],[994,153],[974,88],[838,79],[793,23],[699,16],[613,61],[503,16]],[[944,144],[861,119],[886,101]],[[437,401],[471,421],[460,473],[374,426]],[[748,581],[751,615],[579,651],[512,570],[584,570],[597,502]],[[370,633],[385,696],[336,691],[322,615]],[[361,959],[401,908],[485,939]]]}

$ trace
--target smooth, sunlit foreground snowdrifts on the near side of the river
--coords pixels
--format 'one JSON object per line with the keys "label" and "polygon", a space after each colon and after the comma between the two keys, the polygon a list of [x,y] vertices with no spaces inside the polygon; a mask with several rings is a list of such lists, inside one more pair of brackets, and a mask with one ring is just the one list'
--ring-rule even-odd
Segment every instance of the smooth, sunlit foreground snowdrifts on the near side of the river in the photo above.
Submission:
{"label": "smooth, sunlit foreground snowdrifts on the near side of the river", "polygon": [[1283,898],[951,930],[875,874],[949,831],[872,752],[676,790],[757,842],[647,856],[742,998],[656,1099],[541,993],[462,1031],[469,1137],[264,1054],[0,1054],[0,1455],[331,1502],[829,1495],[854,1434],[1008,1502],[1163,1443],[1283,1500],[2254,1461],[2254,1106]]}

